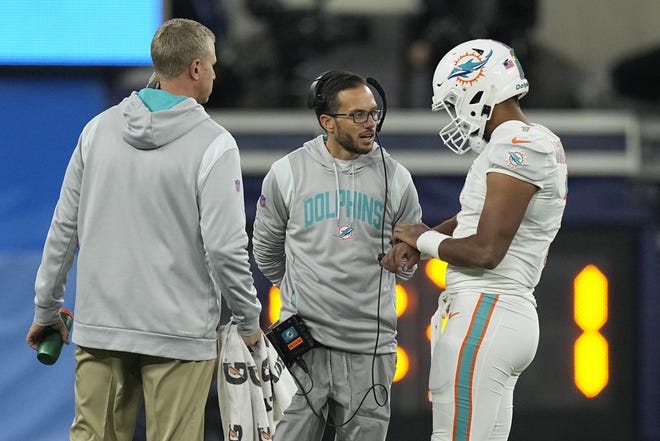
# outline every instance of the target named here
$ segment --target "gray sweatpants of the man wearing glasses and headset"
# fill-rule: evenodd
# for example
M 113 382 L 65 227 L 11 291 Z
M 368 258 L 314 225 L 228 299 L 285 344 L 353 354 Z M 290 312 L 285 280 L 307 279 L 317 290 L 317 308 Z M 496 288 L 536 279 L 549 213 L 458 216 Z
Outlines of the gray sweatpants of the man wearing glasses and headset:
M 376 356 L 376 398 L 371 377 L 373 355 L 316 347 L 302 358 L 309 375 L 298 364 L 291 368 L 299 382 L 298 393 L 277 425 L 273 440 L 320 441 L 325 420 L 337 425 L 350 419 L 335 428 L 336 441 L 385 441 L 396 354 Z

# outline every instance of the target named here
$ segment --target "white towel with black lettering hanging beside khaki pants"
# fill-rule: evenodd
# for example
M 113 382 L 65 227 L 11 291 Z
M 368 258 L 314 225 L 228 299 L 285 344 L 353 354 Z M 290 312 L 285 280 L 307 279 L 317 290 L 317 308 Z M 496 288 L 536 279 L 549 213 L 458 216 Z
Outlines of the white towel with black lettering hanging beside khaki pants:
M 218 403 L 225 441 L 269 440 L 297 391 L 284 362 L 262 335 L 253 352 L 229 322 L 219 332 Z

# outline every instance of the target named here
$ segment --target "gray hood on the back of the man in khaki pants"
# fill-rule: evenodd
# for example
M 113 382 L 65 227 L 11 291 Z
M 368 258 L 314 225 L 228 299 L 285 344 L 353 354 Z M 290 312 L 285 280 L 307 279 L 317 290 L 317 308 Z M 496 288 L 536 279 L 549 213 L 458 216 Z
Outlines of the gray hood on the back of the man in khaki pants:
M 140 150 L 169 144 L 210 118 L 204 107 L 192 98 L 185 98 L 169 109 L 152 112 L 138 93 L 133 92 L 119 107 L 125 123 L 122 138 Z

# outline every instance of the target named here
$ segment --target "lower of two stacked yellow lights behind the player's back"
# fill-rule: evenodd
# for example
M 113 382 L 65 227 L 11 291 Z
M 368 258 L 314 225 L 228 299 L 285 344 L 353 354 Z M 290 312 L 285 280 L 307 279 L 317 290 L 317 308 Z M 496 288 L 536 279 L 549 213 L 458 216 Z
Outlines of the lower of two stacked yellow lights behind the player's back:
M 575 342 L 575 384 L 587 397 L 598 395 L 609 382 L 608 344 L 598 332 L 585 332 Z

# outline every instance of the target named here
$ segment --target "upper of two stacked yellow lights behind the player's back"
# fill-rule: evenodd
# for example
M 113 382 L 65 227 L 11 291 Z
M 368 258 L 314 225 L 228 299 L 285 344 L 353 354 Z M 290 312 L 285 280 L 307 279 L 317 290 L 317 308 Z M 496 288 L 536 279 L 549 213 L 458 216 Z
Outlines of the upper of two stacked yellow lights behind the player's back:
M 607 322 L 607 277 L 587 265 L 573 281 L 575 323 L 585 331 L 597 331 Z

